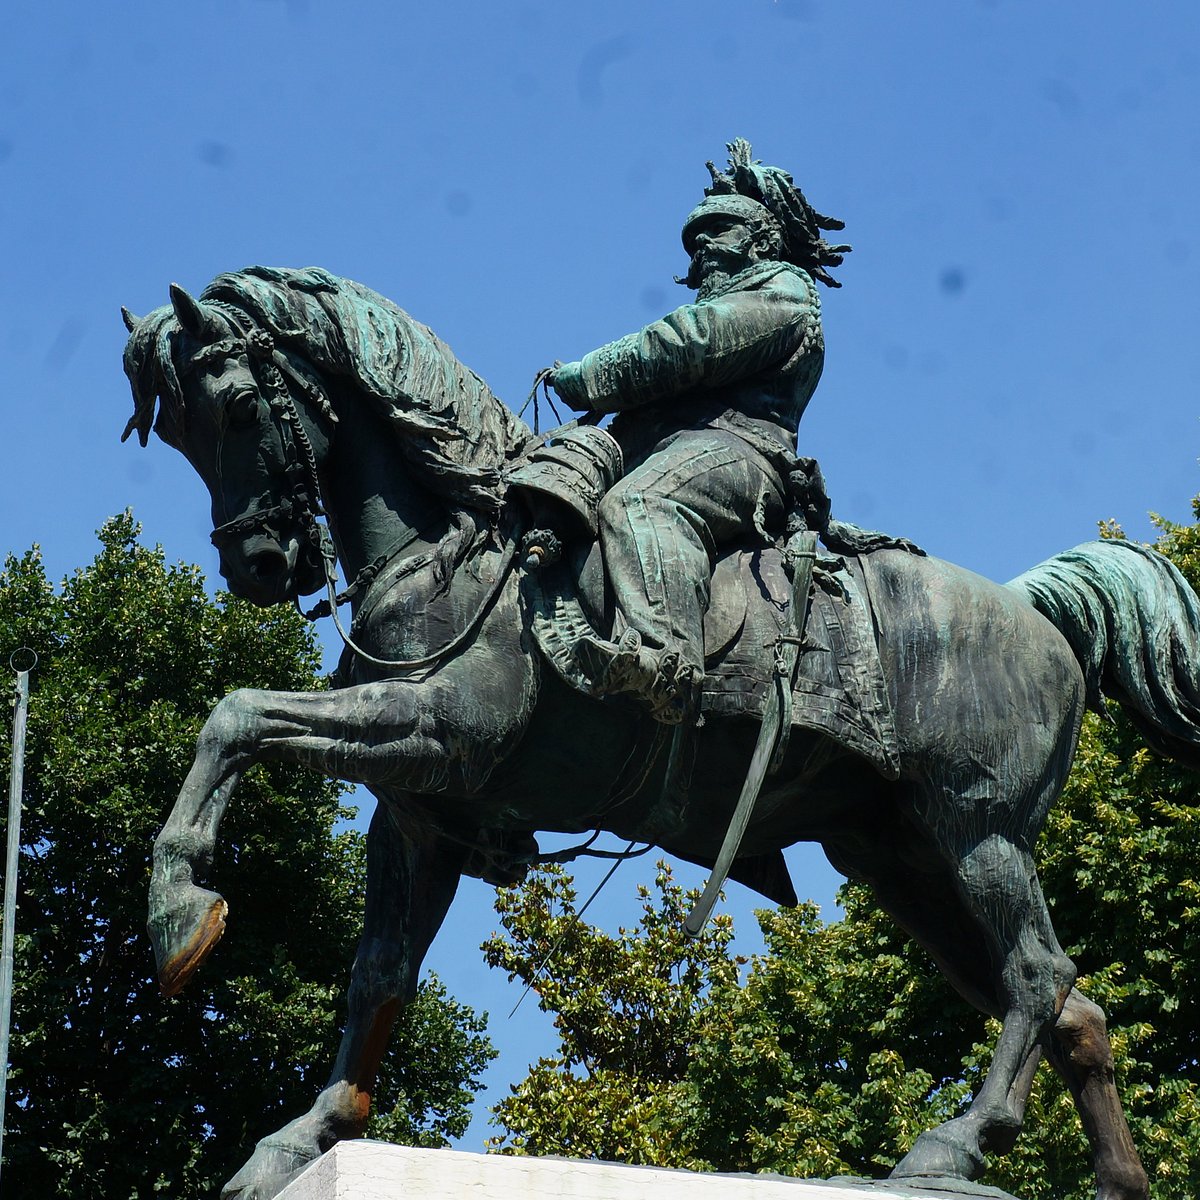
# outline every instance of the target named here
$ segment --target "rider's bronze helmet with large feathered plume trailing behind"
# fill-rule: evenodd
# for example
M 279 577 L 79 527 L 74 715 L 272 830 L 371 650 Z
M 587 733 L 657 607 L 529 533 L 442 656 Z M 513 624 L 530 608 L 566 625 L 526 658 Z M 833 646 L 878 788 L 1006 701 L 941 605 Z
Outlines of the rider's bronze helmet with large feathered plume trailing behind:
M 752 160 L 745 138 L 728 143 L 727 149 L 728 169 L 719 172 L 708 163 L 713 182 L 684 221 L 683 244 L 688 253 L 695 253 L 696 234 L 708 218 L 736 216 L 751 229 L 772 233 L 781 262 L 802 266 L 827 287 L 841 287 L 826 268 L 839 266 L 851 247 L 832 246 L 822 230 L 844 229 L 845 222 L 817 212 L 786 170 Z

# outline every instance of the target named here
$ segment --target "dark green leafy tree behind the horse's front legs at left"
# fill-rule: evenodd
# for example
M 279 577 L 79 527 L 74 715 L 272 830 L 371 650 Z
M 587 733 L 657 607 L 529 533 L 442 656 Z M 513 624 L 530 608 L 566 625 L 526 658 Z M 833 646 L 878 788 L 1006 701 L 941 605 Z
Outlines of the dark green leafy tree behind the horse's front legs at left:
M 362 838 L 313 773 L 251 770 L 212 877 L 229 930 L 163 1001 L 144 934 L 150 847 L 212 704 L 313 689 L 292 611 L 211 600 L 198 568 L 140 546 L 126 514 L 52 587 L 37 551 L 0 572 L 0 647 L 32 647 L 4 1181 L 11 1195 L 212 1194 L 324 1081 L 362 911 Z M 7 650 L 4 652 L 7 655 Z M 0 763 L 7 778 L 7 754 Z M 468 1123 L 484 1021 L 426 983 L 385 1066 L 377 1135 Z M 403 1061 L 401 1055 L 409 1057 Z

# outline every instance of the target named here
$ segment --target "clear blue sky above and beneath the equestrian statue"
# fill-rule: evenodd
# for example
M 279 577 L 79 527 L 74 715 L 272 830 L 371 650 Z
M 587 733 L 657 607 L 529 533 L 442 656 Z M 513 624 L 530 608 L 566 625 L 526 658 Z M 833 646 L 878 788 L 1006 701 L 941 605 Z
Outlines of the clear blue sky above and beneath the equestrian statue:
M 838 515 L 1001 580 L 1102 517 L 1148 538 L 1200 492 L 1198 34 L 1194 0 L 10 6 L 4 548 L 61 576 L 132 505 L 216 576 L 182 458 L 118 443 L 120 305 L 318 264 L 520 406 L 685 298 L 679 223 L 736 136 L 854 245 L 800 431 Z M 828 906 L 822 863 L 793 856 Z M 430 961 L 491 1009 L 494 1090 L 551 1039 L 530 1002 L 505 1020 L 474 953 L 493 924 L 464 887 Z

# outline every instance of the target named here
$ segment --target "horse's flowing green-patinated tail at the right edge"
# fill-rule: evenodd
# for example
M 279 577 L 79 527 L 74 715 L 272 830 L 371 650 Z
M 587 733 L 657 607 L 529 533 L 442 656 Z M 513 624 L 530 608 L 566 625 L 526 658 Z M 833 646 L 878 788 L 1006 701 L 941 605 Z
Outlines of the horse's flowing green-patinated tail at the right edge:
M 1087 541 L 1008 587 L 1067 638 L 1090 708 L 1117 701 L 1152 749 L 1200 770 L 1200 598 L 1171 562 Z

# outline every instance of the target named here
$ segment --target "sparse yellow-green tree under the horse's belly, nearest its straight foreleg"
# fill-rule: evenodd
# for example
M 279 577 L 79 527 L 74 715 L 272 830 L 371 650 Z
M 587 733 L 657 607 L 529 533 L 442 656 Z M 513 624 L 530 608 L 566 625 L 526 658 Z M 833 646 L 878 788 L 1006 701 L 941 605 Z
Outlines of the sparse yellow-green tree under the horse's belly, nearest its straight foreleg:
M 540 1007 L 556 1014 L 560 1044 L 500 1102 L 496 1122 L 508 1132 L 493 1148 L 672 1162 L 671 1085 L 686 1069 L 704 992 L 734 985 L 739 960 L 727 953 L 730 918 L 689 941 L 688 896 L 662 864 L 656 887 L 655 901 L 638 889 L 642 918 L 616 937 L 578 920 L 562 868 L 497 893 L 506 936 L 491 937 L 484 953 L 510 978 L 534 983 Z M 548 971 L 534 979 L 556 943 Z

